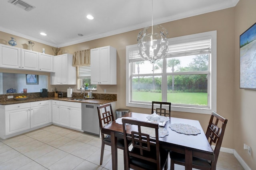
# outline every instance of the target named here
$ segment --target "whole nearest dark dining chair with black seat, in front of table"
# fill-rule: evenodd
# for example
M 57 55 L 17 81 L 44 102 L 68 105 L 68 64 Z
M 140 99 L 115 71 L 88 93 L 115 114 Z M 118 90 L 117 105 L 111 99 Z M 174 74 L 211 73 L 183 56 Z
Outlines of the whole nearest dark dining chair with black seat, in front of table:
M 167 170 L 168 151 L 159 147 L 158 124 L 144 121 L 122 119 L 124 131 L 124 150 L 126 170 Z M 150 137 L 149 128 L 155 138 Z M 144 132 L 145 131 L 145 132 Z M 132 141 L 132 149 L 129 142 Z

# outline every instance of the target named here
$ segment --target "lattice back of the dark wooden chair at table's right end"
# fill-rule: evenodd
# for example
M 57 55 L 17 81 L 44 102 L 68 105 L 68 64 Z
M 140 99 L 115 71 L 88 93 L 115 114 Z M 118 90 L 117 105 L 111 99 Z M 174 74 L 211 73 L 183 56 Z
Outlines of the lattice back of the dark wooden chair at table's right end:
M 220 147 L 222 144 L 222 139 L 224 137 L 224 132 L 226 129 L 228 119 L 225 119 L 215 111 L 212 111 L 212 115 L 210 117 L 209 125 L 206 130 L 206 137 L 212 145 L 215 143 L 215 149 L 214 149 L 214 161 L 211 162 L 211 169 L 216 168 L 218 156 L 220 153 Z

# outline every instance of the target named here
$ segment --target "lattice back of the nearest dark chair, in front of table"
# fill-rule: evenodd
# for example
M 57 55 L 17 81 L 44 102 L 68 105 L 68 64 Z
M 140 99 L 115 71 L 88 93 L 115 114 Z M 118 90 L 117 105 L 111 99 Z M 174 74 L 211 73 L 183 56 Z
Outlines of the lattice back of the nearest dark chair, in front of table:
M 126 169 L 141 169 L 130 161 L 130 156 L 138 158 L 138 160 L 146 160 L 156 164 L 157 169 L 160 169 L 160 151 L 158 141 L 158 124 L 148 123 L 144 121 L 137 121 L 131 119 L 122 119 L 124 131 L 124 150 L 126 154 Z M 126 125 L 128 124 L 128 125 Z M 150 127 L 154 129 L 155 139 L 151 138 L 149 134 L 142 132 L 142 127 Z M 129 151 L 129 141 L 132 141 L 133 150 Z M 138 151 L 139 150 L 139 151 Z M 150 151 L 156 151 L 155 155 L 150 154 Z

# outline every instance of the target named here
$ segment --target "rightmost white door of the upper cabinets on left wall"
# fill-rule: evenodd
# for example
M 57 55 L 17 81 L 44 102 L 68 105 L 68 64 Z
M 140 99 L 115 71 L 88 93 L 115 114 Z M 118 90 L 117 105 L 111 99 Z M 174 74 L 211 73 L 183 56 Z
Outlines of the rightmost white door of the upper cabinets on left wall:
M 39 70 L 53 72 L 53 56 L 39 53 Z

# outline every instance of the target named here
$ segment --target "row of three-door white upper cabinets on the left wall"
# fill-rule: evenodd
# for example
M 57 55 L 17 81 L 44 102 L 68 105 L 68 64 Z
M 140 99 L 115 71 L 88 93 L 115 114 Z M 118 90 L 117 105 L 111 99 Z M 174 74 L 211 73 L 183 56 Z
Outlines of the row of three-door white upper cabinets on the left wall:
M 53 72 L 53 56 L 0 44 L 0 68 Z

